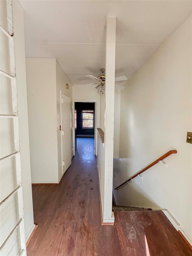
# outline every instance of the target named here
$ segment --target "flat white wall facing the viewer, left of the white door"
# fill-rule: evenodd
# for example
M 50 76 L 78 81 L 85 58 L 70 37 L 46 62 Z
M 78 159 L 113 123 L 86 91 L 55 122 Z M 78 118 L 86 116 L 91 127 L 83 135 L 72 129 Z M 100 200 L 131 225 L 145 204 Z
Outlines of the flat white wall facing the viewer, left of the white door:
M 32 183 L 58 182 L 55 59 L 26 58 Z

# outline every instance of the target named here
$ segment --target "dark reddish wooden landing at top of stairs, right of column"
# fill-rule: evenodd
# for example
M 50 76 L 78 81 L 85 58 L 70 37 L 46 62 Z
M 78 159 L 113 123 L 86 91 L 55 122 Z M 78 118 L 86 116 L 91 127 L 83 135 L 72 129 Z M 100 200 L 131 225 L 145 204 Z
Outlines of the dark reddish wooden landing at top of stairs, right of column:
M 192 256 L 190 244 L 176 232 L 161 210 L 119 206 L 114 195 L 112 203 L 117 233 L 123 238 L 123 255 Z

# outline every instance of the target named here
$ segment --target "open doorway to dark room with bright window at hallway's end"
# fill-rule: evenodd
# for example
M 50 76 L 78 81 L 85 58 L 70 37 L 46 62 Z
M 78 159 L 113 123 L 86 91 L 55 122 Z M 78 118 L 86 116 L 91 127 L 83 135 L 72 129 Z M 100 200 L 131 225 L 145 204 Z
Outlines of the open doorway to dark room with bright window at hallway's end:
M 78 138 L 90 138 L 95 145 L 96 109 L 95 102 L 74 103 L 75 152 Z

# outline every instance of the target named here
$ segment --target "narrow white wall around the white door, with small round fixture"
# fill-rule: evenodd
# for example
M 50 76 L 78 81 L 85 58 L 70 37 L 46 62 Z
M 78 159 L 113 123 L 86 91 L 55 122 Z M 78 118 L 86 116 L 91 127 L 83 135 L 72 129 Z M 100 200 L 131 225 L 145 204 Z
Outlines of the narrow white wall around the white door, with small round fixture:
M 57 90 L 57 148 L 58 148 L 58 180 L 62 177 L 62 131 L 60 131 L 61 125 L 61 91 L 72 100 L 72 84 L 67 78 L 61 66 L 56 61 L 56 90 Z M 66 88 L 66 84 L 69 85 L 69 89 Z

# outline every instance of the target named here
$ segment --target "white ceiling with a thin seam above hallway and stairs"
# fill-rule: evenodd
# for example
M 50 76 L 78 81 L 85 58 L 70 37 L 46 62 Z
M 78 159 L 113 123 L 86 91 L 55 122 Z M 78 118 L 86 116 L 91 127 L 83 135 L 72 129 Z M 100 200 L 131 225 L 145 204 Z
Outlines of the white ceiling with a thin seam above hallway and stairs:
M 19 1 L 26 57 L 56 58 L 73 84 L 105 67 L 105 22 L 117 17 L 116 76 L 130 78 L 191 14 L 192 1 Z

